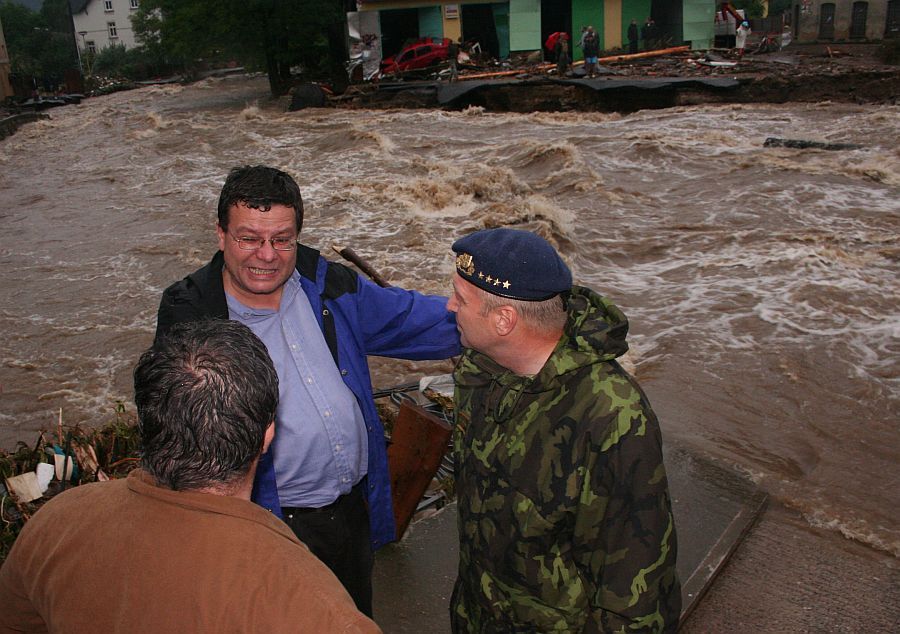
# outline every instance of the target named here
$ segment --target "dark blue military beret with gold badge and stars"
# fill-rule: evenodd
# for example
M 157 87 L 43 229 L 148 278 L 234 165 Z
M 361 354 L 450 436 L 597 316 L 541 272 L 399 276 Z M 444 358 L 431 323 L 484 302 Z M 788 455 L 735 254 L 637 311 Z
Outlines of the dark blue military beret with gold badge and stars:
M 456 271 L 488 293 L 542 301 L 572 288 L 572 272 L 556 249 L 519 229 L 476 231 L 453 243 Z

